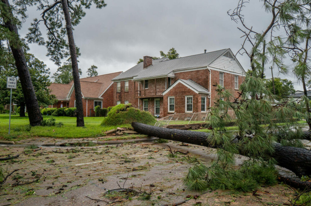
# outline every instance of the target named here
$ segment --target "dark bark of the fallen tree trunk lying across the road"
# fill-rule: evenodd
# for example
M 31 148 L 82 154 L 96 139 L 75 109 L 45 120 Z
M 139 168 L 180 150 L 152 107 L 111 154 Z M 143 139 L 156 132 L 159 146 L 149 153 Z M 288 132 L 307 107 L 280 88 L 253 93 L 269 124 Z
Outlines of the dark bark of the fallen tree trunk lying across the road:
M 205 132 L 160 128 L 138 122 L 132 122 L 132 127 L 140 134 L 205 147 L 217 147 L 210 145 L 208 141 L 209 134 Z M 278 165 L 293 171 L 299 177 L 311 175 L 311 151 L 297 147 L 282 147 L 279 143 L 275 143 L 274 147 L 275 152 L 272 157 L 278 162 Z

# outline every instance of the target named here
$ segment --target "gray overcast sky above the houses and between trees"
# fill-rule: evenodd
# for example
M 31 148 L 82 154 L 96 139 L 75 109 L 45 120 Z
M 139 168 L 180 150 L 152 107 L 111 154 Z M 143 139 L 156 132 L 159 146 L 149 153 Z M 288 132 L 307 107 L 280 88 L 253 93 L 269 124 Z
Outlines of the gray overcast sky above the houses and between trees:
M 234 9 L 238 0 L 105 0 L 103 9 L 92 7 L 75 27 L 75 42 L 81 50 L 79 68 L 82 77 L 91 65 L 98 73 L 126 71 L 143 56 L 160 56 L 174 47 L 180 57 L 230 48 L 236 53 L 243 42 L 237 24 L 227 11 Z M 39 17 L 36 8 L 29 8 L 29 18 L 20 31 L 25 37 L 33 18 Z M 253 0 L 244 8 L 245 23 L 261 31 L 267 27 L 270 14 L 264 12 L 262 1 Z M 43 27 L 42 27 L 43 28 Z M 43 28 L 44 29 L 44 28 Z M 30 53 L 44 61 L 51 75 L 57 66 L 46 57 L 44 46 L 30 44 Z M 245 70 L 250 67 L 247 56 L 237 55 Z M 271 71 L 266 71 L 271 77 Z M 290 72 L 284 76 L 274 71 L 274 76 L 288 78 L 301 86 Z

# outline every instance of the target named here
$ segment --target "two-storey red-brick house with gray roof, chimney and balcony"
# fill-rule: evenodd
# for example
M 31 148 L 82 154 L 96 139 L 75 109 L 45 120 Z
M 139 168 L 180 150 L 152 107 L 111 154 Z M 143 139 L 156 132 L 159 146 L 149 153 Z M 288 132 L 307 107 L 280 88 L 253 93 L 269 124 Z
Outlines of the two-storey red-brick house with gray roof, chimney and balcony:
M 245 71 L 230 49 L 178 59 L 144 61 L 114 79 L 114 105 L 134 107 L 160 117 L 207 111 L 214 105 L 220 84 L 238 96 Z

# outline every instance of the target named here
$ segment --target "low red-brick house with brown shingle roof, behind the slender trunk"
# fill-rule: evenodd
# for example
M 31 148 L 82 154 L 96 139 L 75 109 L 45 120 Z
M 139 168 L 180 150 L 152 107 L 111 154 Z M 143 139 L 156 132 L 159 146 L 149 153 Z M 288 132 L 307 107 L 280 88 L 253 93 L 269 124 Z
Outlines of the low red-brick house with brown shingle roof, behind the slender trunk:
M 114 84 L 111 79 L 119 74 L 121 72 L 80 79 L 84 116 L 95 116 L 94 109 L 96 106 L 101 108 L 114 106 Z M 69 84 L 52 83 L 48 88 L 51 90 L 50 94 L 54 94 L 58 99 L 56 105 L 50 105 L 49 107 L 76 107 L 73 81 Z

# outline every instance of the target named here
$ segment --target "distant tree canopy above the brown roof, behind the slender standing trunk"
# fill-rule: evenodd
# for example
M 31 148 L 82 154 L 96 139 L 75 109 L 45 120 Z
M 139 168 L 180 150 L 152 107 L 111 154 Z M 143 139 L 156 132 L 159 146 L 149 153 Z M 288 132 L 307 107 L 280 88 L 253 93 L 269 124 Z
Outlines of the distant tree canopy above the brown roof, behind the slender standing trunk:
M 80 68 L 79 74 L 82 74 Z M 69 82 L 73 80 L 72 65 L 70 63 L 65 63 L 63 66 L 58 67 L 57 71 L 53 73 L 52 79 L 54 80 L 54 83 L 69 84 Z

